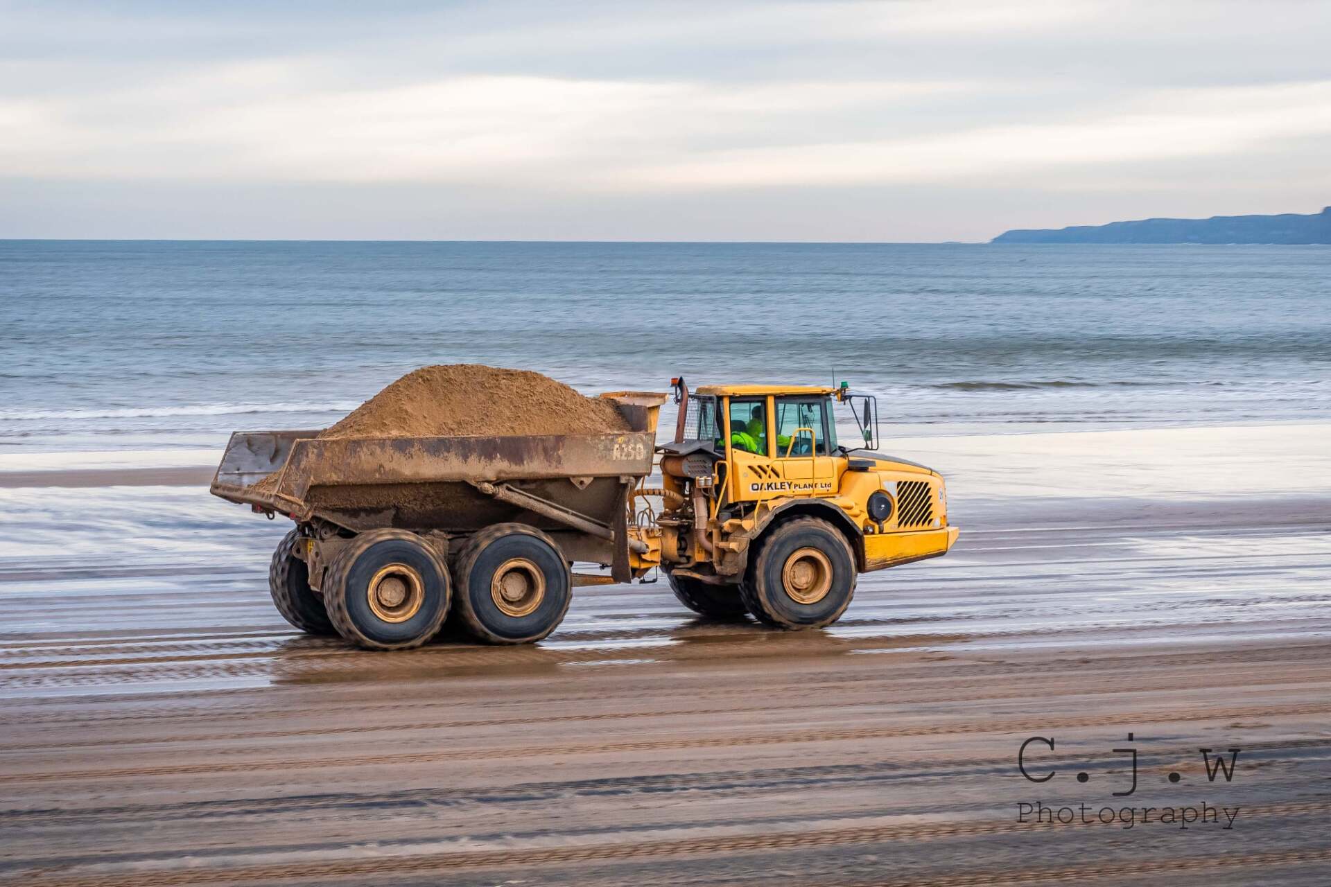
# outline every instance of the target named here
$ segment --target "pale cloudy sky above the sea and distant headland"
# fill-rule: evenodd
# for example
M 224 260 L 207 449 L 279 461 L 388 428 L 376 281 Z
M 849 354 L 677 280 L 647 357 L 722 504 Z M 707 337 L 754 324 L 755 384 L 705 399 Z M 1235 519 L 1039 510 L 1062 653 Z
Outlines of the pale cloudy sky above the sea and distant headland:
M 934 242 L 1314 213 L 1328 47 L 1326 0 L 0 0 L 0 237 Z

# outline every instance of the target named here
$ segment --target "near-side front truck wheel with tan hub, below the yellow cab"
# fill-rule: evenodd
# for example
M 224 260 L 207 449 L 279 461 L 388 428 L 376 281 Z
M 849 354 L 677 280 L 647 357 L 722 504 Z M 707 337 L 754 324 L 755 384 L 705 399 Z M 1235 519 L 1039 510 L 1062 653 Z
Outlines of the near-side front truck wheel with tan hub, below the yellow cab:
M 851 605 L 855 580 L 855 555 L 845 537 L 825 520 L 796 517 L 761 541 L 740 594 L 768 625 L 823 628 Z

